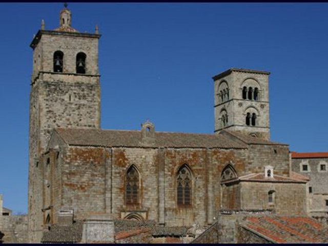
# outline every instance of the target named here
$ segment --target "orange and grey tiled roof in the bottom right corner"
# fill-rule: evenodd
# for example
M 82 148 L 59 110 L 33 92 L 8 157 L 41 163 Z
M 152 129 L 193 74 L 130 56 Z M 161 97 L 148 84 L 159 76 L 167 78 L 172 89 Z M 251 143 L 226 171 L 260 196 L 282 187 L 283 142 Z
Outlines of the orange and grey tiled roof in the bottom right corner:
M 275 243 L 328 242 L 327 227 L 306 216 L 249 216 L 240 226 Z

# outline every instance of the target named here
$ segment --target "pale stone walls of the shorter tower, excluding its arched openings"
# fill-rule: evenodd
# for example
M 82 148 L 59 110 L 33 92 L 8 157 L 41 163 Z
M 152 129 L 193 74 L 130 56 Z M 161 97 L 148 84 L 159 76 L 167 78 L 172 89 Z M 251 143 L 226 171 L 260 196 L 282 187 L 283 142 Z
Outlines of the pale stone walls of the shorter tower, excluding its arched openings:
M 218 98 L 218 89 L 222 82 L 229 86 L 229 100 L 221 102 Z M 259 99 L 242 99 L 242 88 L 257 87 L 259 89 Z M 215 131 L 221 130 L 220 112 L 226 109 L 228 113 L 227 129 L 257 133 L 259 137 L 270 139 L 270 118 L 269 118 L 269 76 L 267 74 L 233 71 L 231 74 L 215 80 L 214 82 L 214 114 Z M 246 113 L 251 112 L 257 115 L 256 126 L 245 124 Z

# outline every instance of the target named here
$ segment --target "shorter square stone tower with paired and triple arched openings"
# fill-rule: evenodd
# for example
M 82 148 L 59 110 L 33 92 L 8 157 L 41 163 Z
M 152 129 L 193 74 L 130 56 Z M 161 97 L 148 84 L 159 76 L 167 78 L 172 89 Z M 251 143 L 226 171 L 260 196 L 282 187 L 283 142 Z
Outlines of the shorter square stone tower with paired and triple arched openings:
M 269 74 L 231 68 L 213 77 L 215 133 L 227 129 L 270 139 Z

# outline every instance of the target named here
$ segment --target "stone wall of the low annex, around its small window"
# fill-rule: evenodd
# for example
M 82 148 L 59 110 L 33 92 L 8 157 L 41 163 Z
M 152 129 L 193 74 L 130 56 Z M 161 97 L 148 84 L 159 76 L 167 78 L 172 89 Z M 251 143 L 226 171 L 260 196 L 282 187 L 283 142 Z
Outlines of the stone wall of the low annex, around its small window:
M 241 208 L 243 210 L 275 209 L 277 214 L 305 214 L 305 183 L 241 182 Z M 269 203 L 268 192 L 275 191 L 275 202 Z

